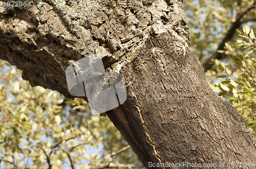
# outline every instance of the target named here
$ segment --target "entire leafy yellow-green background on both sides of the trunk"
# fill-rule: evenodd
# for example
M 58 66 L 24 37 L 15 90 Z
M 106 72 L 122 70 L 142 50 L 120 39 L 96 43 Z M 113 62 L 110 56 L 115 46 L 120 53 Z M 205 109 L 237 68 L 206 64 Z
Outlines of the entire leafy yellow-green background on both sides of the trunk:
M 187 0 L 191 48 L 217 95 L 256 133 L 255 1 Z M 144 168 L 113 123 L 88 103 L 32 88 L 0 62 L 0 168 Z

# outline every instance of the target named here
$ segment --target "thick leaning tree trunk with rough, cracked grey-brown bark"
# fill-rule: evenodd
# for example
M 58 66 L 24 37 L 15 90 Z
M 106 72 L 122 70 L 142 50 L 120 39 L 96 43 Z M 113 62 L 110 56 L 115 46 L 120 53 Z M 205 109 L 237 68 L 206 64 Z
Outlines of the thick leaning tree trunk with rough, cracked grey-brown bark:
M 31 86 L 73 98 L 65 70 L 94 53 L 123 74 L 128 99 L 107 115 L 147 168 L 150 161 L 256 162 L 255 137 L 212 92 L 189 38 L 182 0 L 0 8 L 0 59 L 23 70 Z

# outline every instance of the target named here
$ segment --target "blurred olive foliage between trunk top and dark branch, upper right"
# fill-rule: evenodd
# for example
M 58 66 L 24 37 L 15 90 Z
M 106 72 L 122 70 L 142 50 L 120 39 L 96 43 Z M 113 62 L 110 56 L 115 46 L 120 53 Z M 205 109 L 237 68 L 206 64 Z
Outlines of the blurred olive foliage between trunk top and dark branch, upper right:
M 224 37 L 234 22 L 241 19 L 239 23 L 243 24 L 255 20 L 256 11 L 248 10 L 253 3 L 253 0 L 185 1 L 186 22 L 191 34 L 190 46 L 202 64 L 211 58 L 218 46 L 224 42 Z M 233 37 L 230 40 L 235 42 L 238 37 L 236 32 Z

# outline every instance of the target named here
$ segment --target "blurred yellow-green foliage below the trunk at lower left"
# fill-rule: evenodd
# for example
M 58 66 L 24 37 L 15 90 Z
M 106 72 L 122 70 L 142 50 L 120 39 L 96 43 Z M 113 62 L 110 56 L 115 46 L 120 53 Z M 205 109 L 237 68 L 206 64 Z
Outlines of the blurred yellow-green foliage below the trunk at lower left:
M 90 115 L 82 99 L 32 88 L 21 71 L 0 62 L 1 168 L 90 168 L 141 163 L 108 118 Z M 98 147 L 100 149 L 97 149 Z

